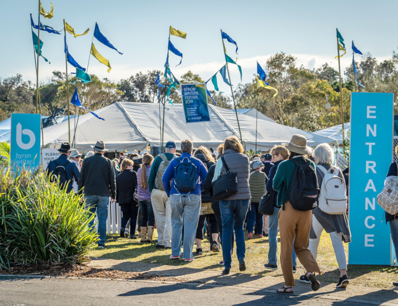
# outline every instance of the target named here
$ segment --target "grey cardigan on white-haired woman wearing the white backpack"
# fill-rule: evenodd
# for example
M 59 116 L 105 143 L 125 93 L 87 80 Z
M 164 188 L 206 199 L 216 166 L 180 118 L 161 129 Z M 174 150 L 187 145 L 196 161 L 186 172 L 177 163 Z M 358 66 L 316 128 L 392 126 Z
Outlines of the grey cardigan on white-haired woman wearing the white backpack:
M 331 168 L 331 165 L 326 165 L 326 164 L 321 164 L 320 166 L 323 166 L 326 170 L 329 170 Z M 322 186 L 322 181 L 324 180 L 324 176 L 325 176 L 324 172 L 318 169 L 316 170 L 316 177 L 318 179 L 319 188 Z M 344 176 L 343 173 L 341 172 L 341 169 L 338 176 L 344 180 Z M 327 213 L 322 212 L 319 208 L 315 208 L 314 210 L 312 210 L 312 214 L 315 216 L 316 220 L 318 220 L 320 225 L 324 227 L 326 233 L 333 233 L 333 232 L 342 233 L 341 240 L 344 241 L 345 243 L 351 242 L 351 231 L 347 219 L 347 214 L 329 215 Z M 312 225 L 310 231 L 310 238 L 316 239 L 316 235 L 312 228 Z

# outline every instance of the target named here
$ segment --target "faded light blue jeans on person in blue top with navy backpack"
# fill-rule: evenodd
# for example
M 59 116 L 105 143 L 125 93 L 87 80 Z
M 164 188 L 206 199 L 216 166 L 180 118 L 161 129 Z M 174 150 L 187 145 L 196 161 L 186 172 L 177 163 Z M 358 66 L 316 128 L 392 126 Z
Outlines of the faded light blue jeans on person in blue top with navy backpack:
M 171 254 L 181 256 L 182 231 L 184 226 L 183 259 L 193 259 L 196 227 L 201 212 L 201 197 L 197 194 L 180 196 L 170 194 L 171 207 Z

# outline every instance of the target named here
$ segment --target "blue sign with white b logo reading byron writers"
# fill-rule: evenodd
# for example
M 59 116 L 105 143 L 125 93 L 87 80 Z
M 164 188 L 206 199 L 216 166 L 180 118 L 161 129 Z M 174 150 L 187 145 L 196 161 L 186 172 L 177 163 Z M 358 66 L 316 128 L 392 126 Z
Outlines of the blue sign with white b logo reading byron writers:
M 11 114 L 11 165 L 40 165 L 40 114 Z

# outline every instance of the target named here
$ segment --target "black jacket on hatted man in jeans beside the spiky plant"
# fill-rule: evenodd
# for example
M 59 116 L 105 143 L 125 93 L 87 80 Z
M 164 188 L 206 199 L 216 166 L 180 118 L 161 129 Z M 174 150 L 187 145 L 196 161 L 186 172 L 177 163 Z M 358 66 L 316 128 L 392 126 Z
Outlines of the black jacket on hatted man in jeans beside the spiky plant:
M 79 193 L 83 190 L 85 195 L 110 196 L 114 199 L 116 181 L 111 161 L 101 153 L 85 158 L 80 171 L 78 190 Z

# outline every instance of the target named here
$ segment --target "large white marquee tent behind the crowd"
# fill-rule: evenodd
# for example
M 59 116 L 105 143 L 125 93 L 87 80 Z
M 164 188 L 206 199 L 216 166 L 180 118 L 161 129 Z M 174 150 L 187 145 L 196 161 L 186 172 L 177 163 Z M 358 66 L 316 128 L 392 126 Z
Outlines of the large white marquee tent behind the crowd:
M 162 106 L 161 106 L 162 107 Z M 190 139 L 194 146 L 205 145 L 215 149 L 228 136 L 239 138 L 239 129 L 234 110 L 215 106 L 209 107 L 210 122 L 186 123 L 182 104 L 167 105 L 165 111 L 164 144 L 168 140 L 177 143 Z M 76 131 L 76 148 L 79 151 L 90 150 L 97 140 L 105 142 L 111 150 L 143 150 L 148 145 L 160 146 L 159 104 L 117 102 L 95 111 L 99 120 L 91 114 L 80 116 Z M 161 108 L 163 116 L 163 108 Z M 239 114 L 239 124 L 246 150 L 255 150 L 256 120 Z M 44 129 L 44 147 L 59 147 L 68 141 L 68 122 Z M 71 124 L 71 141 L 73 124 Z M 269 150 L 274 144 L 289 142 L 293 134 L 304 135 L 308 145 L 315 147 L 320 143 L 337 144 L 334 139 L 294 129 L 293 127 L 258 119 L 257 150 Z

